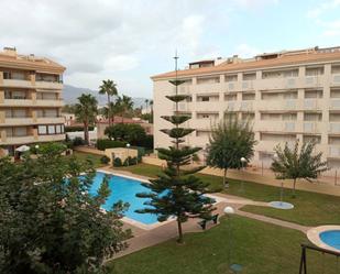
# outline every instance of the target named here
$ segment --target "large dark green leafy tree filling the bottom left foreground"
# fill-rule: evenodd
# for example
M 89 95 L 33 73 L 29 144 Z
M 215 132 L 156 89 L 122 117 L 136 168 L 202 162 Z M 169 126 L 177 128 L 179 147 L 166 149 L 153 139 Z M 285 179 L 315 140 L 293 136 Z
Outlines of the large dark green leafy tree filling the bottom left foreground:
M 1 273 L 103 273 L 103 261 L 127 246 L 130 232 L 120 221 L 127 205 L 103 211 L 108 179 L 89 194 L 92 164 L 64 151 L 42 144 L 36 158 L 0 158 Z

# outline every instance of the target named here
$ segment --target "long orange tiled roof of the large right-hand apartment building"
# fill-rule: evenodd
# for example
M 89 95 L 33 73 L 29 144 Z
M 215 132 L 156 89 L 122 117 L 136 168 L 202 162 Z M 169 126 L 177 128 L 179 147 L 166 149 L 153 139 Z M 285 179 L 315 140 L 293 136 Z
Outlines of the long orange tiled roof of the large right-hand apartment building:
M 289 66 L 297 64 L 308 64 L 308 63 L 330 62 L 330 61 L 340 62 L 340 52 L 333 52 L 333 53 L 309 52 L 295 55 L 282 55 L 277 58 L 272 59 L 259 59 L 259 61 L 254 59 L 233 64 L 228 64 L 227 62 L 224 62 L 213 67 L 200 67 L 200 68 L 178 70 L 177 75 L 178 77 L 194 76 L 194 75 L 209 75 L 213 73 L 229 73 L 229 72 L 231 73 L 245 69 L 270 68 L 276 66 Z M 169 72 L 165 74 L 154 75 L 151 78 L 153 80 L 156 80 L 156 79 L 174 78 L 174 77 L 175 72 Z

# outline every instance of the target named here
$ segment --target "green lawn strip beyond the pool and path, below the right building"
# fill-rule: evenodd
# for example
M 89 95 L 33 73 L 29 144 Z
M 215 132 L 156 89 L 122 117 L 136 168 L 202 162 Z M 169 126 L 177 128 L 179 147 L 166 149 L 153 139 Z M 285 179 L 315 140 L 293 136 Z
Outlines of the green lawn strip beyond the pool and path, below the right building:
M 161 172 L 158 166 L 139 164 L 136 166 L 122 167 L 120 169 L 130 171 L 135 174 L 155 177 Z M 204 182 L 209 183 L 211 191 L 222 190 L 222 178 L 218 176 L 198 174 Z M 279 188 L 263 184 L 245 182 L 244 189 L 241 189 L 241 182 L 229 179 L 230 187 L 223 190 L 231 194 L 257 201 L 272 201 L 279 199 Z M 307 183 L 306 184 L 310 184 Z M 340 197 L 297 190 L 297 197 L 292 197 L 292 190 L 285 189 L 284 200 L 294 204 L 292 210 L 279 210 L 267 207 L 245 206 L 244 211 L 264 215 L 282 220 L 287 220 L 304 226 L 340 224 Z

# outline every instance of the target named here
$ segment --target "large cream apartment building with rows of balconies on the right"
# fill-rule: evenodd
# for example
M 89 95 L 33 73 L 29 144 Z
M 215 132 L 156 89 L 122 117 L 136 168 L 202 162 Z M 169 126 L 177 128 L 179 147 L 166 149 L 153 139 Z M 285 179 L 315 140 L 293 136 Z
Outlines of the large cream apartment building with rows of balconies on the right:
M 201 146 L 205 157 L 211 125 L 226 111 L 250 119 L 257 144 L 252 164 L 270 166 L 276 144 L 315 140 L 331 167 L 340 167 L 340 47 L 306 48 L 190 63 L 178 70 L 188 95 L 179 111 L 191 116 L 185 127 L 196 129 L 186 144 Z M 175 72 L 153 76 L 154 145 L 171 145 L 160 129 L 171 127 L 161 117 L 172 114 L 175 94 L 168 83 Z

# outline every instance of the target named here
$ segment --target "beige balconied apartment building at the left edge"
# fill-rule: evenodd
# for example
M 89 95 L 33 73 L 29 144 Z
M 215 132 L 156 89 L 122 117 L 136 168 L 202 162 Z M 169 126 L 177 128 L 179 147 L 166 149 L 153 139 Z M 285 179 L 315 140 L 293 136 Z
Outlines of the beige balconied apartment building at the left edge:
M 65 140 L 62 89 L 65 67 L 42 57 L 0 52 L 0 154 L 22 144 Z

